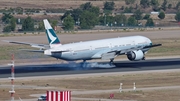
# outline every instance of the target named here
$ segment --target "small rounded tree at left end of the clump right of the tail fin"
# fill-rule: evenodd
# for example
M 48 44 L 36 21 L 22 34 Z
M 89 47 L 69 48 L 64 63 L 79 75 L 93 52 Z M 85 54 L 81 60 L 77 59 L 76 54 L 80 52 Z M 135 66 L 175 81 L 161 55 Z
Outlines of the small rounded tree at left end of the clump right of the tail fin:
M 74 29 L 74 19 L 68 15 L 66 18 L 64 18 L 63 26 L 65 30 L 73 30 Z

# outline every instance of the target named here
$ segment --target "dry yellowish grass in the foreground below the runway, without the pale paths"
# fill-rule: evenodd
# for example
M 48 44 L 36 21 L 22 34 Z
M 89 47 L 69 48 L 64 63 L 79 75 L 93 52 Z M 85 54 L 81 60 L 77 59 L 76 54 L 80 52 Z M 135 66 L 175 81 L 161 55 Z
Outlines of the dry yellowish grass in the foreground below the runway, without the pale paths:
M 136 82 L 137 88 L 148 87 L 161 87 L 161 86 L 179 86 L 180 85 L 180 72 L 158 72 L 158 73 L 142 73 L 142 74 L 116 74 L 116 75 L 103 75 L 103 76 L 84 76 L 84 77 L 71 77 L 71 78 L 36 78 L 36 79 L 16 79 L 15 84 L 21 85 L 21 89 L 16 89 L 16 93 L 22 98 L 32 98 L 30 94 L 43 94 L 46 90 L 110 90 L 118 89 L 119 83 L 123 83 L 123 89 L 132 89 L 133 82 Z M 8 80 L 1 81 L 0 85 L 9 85 Z M 26 86 L 35 86 L 37 88 L 26 88 Z M 38 89 L 38 87 L 44 87 Z M 50 88 L 55 87 L 55 88 Z M 10 88 L 0 88 L 0 101 L 9 99 L 8 91 Z M 115 94 L 115 99 L 122 100 L 139 100 L 139 101 L 178 101 L 180 90 L 178 89 L 162 89 L 129 92 Z M 88 94 L 88 95 L 73 95 L 73 97 L 86 97 L 86 98 L 108 98 L 110 93 L 101 94 Z M 16 95 L 17 98 L 17 95 Z

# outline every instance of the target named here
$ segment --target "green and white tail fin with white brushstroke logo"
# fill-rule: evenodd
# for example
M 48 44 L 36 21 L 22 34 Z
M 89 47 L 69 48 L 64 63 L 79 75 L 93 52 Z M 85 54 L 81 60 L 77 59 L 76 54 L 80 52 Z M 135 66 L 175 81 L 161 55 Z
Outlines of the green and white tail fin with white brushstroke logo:
M 56 33 L 54 32 L 54 30 L 52 29 L 51 25 L 49 24 L 47 19 L 43 20 L 44 22 L 44 27 L 46 29 L 46 35 L 50 44 L 50 47 L 53 44 L 60 44 L 60 40 L 58 39 Z

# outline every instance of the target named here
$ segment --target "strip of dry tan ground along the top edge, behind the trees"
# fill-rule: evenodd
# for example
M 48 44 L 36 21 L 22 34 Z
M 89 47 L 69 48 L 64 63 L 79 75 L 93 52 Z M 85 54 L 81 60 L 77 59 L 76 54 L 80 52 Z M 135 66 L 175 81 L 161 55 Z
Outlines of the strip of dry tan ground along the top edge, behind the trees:
M 86 2 L 91 2 L 94 6 L 98 6 L 103 8 L 104 2 L 107 0 L 1 0 L 0 1 L 0 8 L 5 7 L 23 7 L 23 8 L 77 8 L 79 5 L 84 4 Z M 163 0 L 158 0 L 159 4 L 162 4 Z M 176 6 L 179 0 L 167 0 L 168 3 L 171 3 L 172 6 Z M 125 6 L 124 0 L 114 0 L 115 8 L 121 8 Z M 140 0 L 136 0 L 135 4 L 139 5 Z M 129 6 L 129 5 L 128 5 Z

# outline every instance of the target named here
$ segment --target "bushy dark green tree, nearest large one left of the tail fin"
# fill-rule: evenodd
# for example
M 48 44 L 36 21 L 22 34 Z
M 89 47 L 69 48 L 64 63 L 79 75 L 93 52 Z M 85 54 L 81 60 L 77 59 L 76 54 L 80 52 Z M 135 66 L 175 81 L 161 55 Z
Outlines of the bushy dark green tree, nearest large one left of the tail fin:
M 22 24 L 22 30 L 23 31 L 34 31 L 34 20 L 28 16 L 23 24 Z

